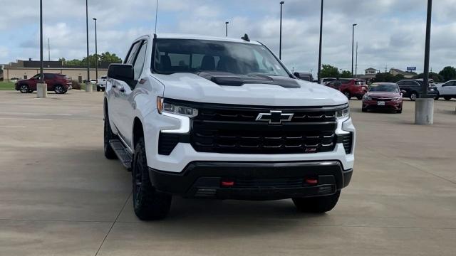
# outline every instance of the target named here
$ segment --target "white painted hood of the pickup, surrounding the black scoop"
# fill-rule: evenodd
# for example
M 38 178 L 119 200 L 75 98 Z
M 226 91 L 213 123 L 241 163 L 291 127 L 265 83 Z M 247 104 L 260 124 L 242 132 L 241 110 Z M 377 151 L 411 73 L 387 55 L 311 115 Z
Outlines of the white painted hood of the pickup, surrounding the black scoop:
M 295 80 L 298 87 L 266 83 L 218 85 L 192 73 L 153 74 L 165 87 L 163 97 L 191 102 L 276 107 L 336 106 L 348 103 L 338 90 Z M 291 78 L 290 78 L 291 79 Z

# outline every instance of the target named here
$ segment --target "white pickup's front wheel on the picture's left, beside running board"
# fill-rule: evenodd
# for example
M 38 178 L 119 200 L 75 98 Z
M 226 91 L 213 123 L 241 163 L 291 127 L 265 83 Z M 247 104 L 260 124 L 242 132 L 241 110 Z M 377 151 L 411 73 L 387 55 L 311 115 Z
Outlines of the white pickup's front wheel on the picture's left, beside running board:
M 172 196 L 155 191 L 150 183 L 144 139 L 138 139 L 132 165 L 133 208 L 140 220 L 160 220 L 170 212 Z

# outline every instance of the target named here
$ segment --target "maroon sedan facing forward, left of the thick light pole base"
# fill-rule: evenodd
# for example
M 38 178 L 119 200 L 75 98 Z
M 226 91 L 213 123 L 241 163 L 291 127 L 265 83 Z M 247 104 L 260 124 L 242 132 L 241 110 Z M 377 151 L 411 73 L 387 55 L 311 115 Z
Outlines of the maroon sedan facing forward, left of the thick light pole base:
M 375 82 L 363 96 L 363 112 L 393 110 L 402 113 L 403 92 L 392 82 Z

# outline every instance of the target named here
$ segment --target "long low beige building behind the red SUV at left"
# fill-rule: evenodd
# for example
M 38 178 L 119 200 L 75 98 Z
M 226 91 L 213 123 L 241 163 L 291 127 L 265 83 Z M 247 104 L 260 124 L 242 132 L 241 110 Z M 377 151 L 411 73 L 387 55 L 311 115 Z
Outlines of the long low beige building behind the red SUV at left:
M 109 63 L 100 63 L 98 78 L 108 74 Z M 44 61 L 44 73 L 68 75 L 71 80 L 83 82 L 87 79 L 87 68 L 81 66 L 63 65 L 61 61 Z M 28 79 L 40 73 L 40 62 L 35 60 L 17 60 L 16 63 L 4 65 L 4 81 L 14 78 Z M 90 68 L 90 79 L 95 79 L 95 68 Z

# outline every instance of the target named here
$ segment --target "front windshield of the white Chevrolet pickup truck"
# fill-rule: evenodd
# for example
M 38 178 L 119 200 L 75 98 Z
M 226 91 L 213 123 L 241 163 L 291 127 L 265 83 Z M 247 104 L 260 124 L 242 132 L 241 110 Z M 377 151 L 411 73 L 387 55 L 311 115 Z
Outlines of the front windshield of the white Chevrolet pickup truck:
M 252 43 L 157 39 L 153 67 L 162 74 L 216 71 L 289 77 L 266 47 Z

